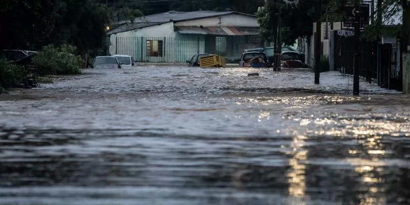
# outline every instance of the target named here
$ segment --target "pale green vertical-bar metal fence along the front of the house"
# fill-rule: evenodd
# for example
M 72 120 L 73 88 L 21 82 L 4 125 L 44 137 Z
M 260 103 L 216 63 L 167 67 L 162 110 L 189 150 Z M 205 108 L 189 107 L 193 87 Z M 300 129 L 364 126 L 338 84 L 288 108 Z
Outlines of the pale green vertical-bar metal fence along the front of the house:
M 131 55 L 135 61 L 154 63 L 186 63 L 197 53 L 215 53 L 229 63 L 237 63 L 243 49 L 258 44 L 241 42 L 240 37 L 116 37 L 115 53 Z

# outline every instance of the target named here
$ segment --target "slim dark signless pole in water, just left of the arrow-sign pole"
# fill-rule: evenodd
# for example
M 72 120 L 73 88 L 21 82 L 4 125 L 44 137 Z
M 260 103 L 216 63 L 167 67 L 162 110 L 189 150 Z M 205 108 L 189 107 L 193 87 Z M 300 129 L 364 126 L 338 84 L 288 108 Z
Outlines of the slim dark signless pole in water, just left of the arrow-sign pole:
M 316 4 L 316 41 L 315 41 L 315 84 L 319 84 L 320 78 L 320 47 L 321 47 L 321 22 L 320 13 L 322 10 L 322 1 L 318 0 Z

